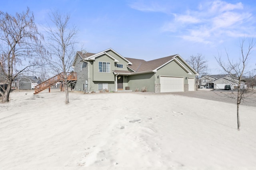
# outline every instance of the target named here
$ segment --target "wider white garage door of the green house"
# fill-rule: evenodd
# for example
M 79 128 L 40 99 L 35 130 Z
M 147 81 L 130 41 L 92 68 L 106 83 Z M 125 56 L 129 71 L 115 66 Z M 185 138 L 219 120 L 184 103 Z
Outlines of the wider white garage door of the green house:
M 160 77 L 160 91 L 161 92 L 176 92 L 184 91 L 183 77 Z

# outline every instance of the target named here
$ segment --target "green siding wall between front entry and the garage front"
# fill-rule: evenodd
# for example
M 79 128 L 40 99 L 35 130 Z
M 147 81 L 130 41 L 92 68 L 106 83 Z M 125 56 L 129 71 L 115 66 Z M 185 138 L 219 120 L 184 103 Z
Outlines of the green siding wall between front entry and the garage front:
M 154 73 L 128 76 L 128 87 L 130 87 L 130 90 L 135 91 L 136 87 L 138 87 L 139 91 L 141 91 L 144 86 L 148 87 L 148 92 L 155 92 Z

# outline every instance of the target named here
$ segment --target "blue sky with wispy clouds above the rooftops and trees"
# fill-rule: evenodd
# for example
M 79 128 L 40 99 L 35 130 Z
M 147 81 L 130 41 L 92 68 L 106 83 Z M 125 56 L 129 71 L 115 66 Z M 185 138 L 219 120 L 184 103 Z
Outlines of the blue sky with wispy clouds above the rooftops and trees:
M 210 74 L 223 73 L 214 56 L 226 57 L 226 49 L 235 61 L 240 40 L 256 36 L 254 0 L 0 0 L 0 4 L 1 11 L 13 15 L 29 7 L 42 25 L 51 10 L 70 13 L 79 30 L 76 51 L 112 48 L 124 57 L 146 61 L 201 53 Z M 250 57 L 248 66 L 256 68 L 256 51 Z

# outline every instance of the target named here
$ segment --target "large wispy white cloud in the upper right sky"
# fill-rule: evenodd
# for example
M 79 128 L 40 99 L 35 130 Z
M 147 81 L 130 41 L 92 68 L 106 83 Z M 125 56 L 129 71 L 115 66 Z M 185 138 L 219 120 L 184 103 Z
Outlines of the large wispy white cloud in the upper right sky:
M 198 10 L 174 14 L 174 20 L 165 23 L 162 30 L 171 29 L 168 31 L 184 40 L 208 44 L 224 42 L 228 37 L 254 34 L 253 24 L 252 14 L 244 10 L 241 2 L 230 4 L 216 0 L 199 4 Z

